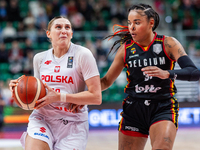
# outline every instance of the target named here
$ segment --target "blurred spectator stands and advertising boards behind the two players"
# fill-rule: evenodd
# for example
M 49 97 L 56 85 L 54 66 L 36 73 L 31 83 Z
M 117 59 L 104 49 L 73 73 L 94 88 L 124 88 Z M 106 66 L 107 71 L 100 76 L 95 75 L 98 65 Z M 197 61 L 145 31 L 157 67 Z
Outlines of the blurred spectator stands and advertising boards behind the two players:
M 17 107 L 8 83 L 33 75 L 33 56 L 51 47 L 45 33 L 48 22 L 59 15 L 69 18 L 72 42 L 91 50 L 102 77 L 115 56 L 106 58 L 113 41 L 103 38 L 113 33 L 114 24 L 127 25 L 127 9 L 135 3 L 150 4 L 158 12 L 156 32 L 177 38 L 200 69 L 200 0 L 0 0 L 0 140 L 18 139 L 26 130 L 31 111 Z M 103 104 L 88 106 L 90 130 L 117 129 L 126 84 L 124 70 L 103 92 Z M 200 129 L 199 82 L 175 84 L 179 127 Z

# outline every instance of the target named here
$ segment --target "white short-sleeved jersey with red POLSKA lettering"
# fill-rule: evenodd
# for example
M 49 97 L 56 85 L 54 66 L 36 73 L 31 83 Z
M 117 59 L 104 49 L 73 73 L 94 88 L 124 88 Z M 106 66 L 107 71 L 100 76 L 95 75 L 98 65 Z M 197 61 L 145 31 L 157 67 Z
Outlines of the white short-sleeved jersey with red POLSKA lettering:
M 91 51 L 71 43 L 68 52 L 55 59 L 53 48 L 34 56 L 34 76 L 41 79 L 56 92 L 74 94 L 86 89 L 85 81 L 98 76 L 99 71 Z M 70 121 L 88 120 L 87 105 L 78 113 L 68 112 L 68 103 L 56 102 L 33 113 Z

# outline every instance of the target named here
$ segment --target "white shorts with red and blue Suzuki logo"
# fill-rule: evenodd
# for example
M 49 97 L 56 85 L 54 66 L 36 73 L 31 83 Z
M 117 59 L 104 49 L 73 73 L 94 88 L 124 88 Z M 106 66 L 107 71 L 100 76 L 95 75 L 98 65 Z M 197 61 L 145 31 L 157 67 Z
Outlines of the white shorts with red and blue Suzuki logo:
M 88 121 L 68 121 L 31 114 L 27 132 L 22 134 L 20 141 L 25 148 L 25 138 L 28 134 L 48 143 L 51 150 L 85 150 L 88 130 Z

